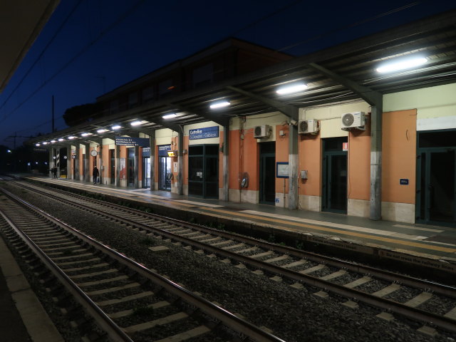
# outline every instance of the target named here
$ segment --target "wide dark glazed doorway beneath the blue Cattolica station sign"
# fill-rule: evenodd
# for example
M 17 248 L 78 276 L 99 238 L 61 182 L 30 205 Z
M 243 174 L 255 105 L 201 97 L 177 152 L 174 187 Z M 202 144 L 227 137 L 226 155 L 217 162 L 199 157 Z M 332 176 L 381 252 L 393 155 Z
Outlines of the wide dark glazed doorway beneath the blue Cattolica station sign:
M 193 145 L 188 152 L 188 194 L 219 198 L 219 145 Z

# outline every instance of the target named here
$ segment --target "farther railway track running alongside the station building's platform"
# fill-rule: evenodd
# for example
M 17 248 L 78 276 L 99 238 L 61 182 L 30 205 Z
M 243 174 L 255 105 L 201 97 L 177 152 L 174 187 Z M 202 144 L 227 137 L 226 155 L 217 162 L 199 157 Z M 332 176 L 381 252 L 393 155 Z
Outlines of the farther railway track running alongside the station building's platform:
M 427 333 L 432 333 L 433 327 L 456 332 L 456 289 L 452 286 L 69 195 L 68 192 L 63 195 L 61 190 L 50 192 L 22 183 L 21 186 L 128 224 L 145 234 L 171 239 L 199 253 L 217 256 L 225 262 L 235 262 L 239 267 L 247 266 L 257 274 L 265 274 L 275 280 L 294 281 L 291 286 L 298 290 L 304 284 L 320 289 L 316 295 L 323 298 L 328 293 L 345 297 L 348 299 L 345 303 L 347 306 L 356 307 L 358 302 L 366 303 L 383 310 L 379 316 L 385 319 L 390 319 L 390 314 L 398 314 L 420 321 L 425 324 L 421 329 Z M 62 199 L 62 196 L 66 199 Z M 406 299 L 403 295 L 405 292 L 408 294 Z

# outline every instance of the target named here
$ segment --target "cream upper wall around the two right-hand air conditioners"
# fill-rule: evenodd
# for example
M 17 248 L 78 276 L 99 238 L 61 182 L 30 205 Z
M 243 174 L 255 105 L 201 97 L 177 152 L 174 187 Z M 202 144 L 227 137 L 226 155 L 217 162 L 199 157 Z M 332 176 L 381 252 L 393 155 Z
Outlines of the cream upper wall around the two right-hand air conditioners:
M 346 137 L 348 132 L 341 130 L 341 116 L 353 112 L 369 113 L 371 106 L 364 101 L 357 101 L 318 108 L 300 108 L 299 120 L 319 120 L 321 138 Z

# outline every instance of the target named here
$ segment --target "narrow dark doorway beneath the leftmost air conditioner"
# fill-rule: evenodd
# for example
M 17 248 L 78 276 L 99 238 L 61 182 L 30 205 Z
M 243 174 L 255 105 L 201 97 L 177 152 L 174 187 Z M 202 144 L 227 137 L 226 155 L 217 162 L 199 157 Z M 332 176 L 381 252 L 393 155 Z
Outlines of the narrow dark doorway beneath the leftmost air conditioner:
M 276 142 L 259 143 L 259 202 L 276 204 Z

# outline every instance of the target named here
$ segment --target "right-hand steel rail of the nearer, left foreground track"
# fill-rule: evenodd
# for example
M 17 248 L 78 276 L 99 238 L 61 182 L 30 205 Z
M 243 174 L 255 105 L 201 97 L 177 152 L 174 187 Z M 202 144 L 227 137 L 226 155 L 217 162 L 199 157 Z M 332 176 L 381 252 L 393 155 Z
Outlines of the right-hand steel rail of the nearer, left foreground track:
M 213 304 L 212 302 L 207 301 L 206 299 L 204 299 L 200 296 L 197 296 L 196 294 L 193 294 L 191 291 L 184 289 L 179 284 L 176 284 L 175 282 L 166 279 L 165 277 L 161 276 L 160 274 L 150 271 L 150 269 L 147 269 L 147 267 L 143 266 L 142 264 L 139 264 L 136 261 L 128 259 L 128 257 L 125 257 L 125 255 L 120 254 L 119 252 L 116 252 L 113 249 L 110 249 L 110 247 L 105 246 L 105 244 L 102 244 L 101 242 L 98 242 L 95 239 L 86 236 L 85 234 L 79 232 L 77 229 L 74 229 L 73 227 L 68 226 L 67 224 L 62 222 L 60 219 L 56 219 L 55 217 L 52 217 L 51 215 L 47 214 L 46 212 L 43 212 L 43 210 L 39 209 L 38 207 L 35 207 L 33 204 L 30 204 L 30 203 L 24 201 L 24 199 L 16 197 L 16 195 L 11 194 L 11 192 L 8 192 L 7 190 L 1 189 L 1 188 L 0 188 L 0 190 L 4 191 L 6 193 L 6 195 L 9 195 L 9 197 L 15 199 L 16 202 L 26 205 L 27 207 L 31 208 L 34 212 L 41 214 L 42 216 L 46 217 L 51 222 L 58 224 L 59 227 L 62 227 L 63 229 L 66 229 L 68 232 L 71 232 L 72 234 L 76 235 L 76 237 L 83 240 L 84 242 L 87 242 L 88 244 L 90 244 L 90 246 L 94 247 L 95 249 L 98 249 L 100 252 L 103 252 L 103 254 L 108 254 L 110 257 L 112 257 L 116 261 L 119 261 L 120 263 L 124 264 L 125 266 L 130 267 L 130 269 L 133 269 L 133 271 L 135 271 L 137 274 L 140 274 L 141 276 L 144 276 L 145 278 L 150 279 L 154 284 L 161 286 L 168 293 L 178 296 L 180 299 L 186 301 L 187 304 L 196 306 L 199 310 L 201 310 L 202 312 L 204 312 L 205 314 L 207 314 L 209 316 L 212 316 L 217 321 L 222 322 L 225 326 L 231 328 L 233 331 L 242 333 L 244 336 L 251 338 L 253 341 L 285 342 L 281 338 L 264 331 L 263 329 L 259 328 L 258 326 L 254 326 L 252 323 L 249 323 L 249 322 L 245 321 L 244 319 L 239 318 L 239 317 L 235 316 L 234 314 L 231 314 L 229 311 L 226 311 L 225 309 L 221 308 L 220 306 L 217 306 L 217 305 Z M 38 247 L 36 247 L 36 248 L 38 248 Z M 94 305 L 96 306 L 96 304 L 94 304 Z M 131 340 L 125 340 L 125 341 L 131 341 Z

